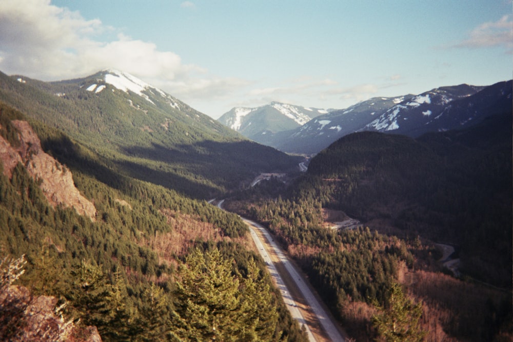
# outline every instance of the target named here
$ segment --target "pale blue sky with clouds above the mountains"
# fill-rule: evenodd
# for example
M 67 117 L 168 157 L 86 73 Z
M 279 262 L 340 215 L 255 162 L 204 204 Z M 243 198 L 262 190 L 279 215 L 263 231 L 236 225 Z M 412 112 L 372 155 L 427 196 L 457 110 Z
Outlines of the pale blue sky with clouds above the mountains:
M 0 0 L 0 71 L 128 72 L 213 118 L 513 78 L 511 0 Z

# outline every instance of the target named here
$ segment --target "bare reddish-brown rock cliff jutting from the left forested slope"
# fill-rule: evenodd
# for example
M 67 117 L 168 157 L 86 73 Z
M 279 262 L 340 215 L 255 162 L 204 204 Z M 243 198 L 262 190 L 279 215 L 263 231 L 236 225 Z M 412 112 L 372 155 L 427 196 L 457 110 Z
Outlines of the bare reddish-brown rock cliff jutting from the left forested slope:
M 4 166 L 4 174 L 10 178 L 14 167 L 22 163 L 35 180 L 42 181 L 40 187 L 50 204 L 73 207 L 78 214 L 94 219 L 94 205 L 75 187 L 71 172 L 43 151 L 41 141 L 29 123 L 13 120 L 12 124 L 19 131 L 21 144 L 19 147 L 12 147 L 0 136 L 0 160 Z

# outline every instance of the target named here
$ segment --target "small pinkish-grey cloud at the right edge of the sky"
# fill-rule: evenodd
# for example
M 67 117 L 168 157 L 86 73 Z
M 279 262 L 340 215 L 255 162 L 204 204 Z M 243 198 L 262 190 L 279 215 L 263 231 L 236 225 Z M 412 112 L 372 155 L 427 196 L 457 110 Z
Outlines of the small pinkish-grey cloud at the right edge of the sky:
M 473 29 L 469 38 L 455 45 L 465 48 L 486 48 L 503 46 L 513 51 L 513 21 L 511 15 L 504 15 L 497 22 L 487 22 Z

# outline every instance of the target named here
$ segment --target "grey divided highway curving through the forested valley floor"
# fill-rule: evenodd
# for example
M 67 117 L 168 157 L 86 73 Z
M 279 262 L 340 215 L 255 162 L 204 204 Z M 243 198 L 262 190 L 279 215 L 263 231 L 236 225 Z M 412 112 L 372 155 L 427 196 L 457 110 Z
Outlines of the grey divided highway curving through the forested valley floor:
M 221 208 L 223 205 L 224 199 L 221 200 L 218 203 L 218 207 Z M 300 325 L 304 325 L 308 334 L 308 338 L 310 341 L 315 341 L 315 337 L 313 336 L 310 328 L 309 323 L 301 312 L 298 309 L 297 303 L 295 303 L 294 299 L 290 295 L 290 291 L 288 290 L 287 286 L 285 285 L 281 275 L 278 273 L 278 270 L 274 266 L 274 264 L 271 261 L 271 258 L 269 257 L 268 251 L 265 248 L 265 244 L 262 242 L 258 234 L 255 232 L 255 230 L 258 230 L 261 234 L 265 236 L 267 239 L 268 246 L 270 246 L 273 249 L 273 252 L 278 256 L 278 259 L 283 264 L 285 270 L 289 273 L 291 280 L 294 281 L 297 288 L 301 291 L 306 303 L 311 308 L 315 316 L 317 317 L 319 323 L 321 324 L 322 328 L 326 332 L 327 336 L 331 341 L 345 341 L 344 336 L 341 334 L 339 329 L 334 325 L 333 321 L 330 319 L 330 316 L 328 313 L 324 310 L 321 303 L 319 303 L 319 300 L 313 295 L 310 288 L 304 283 L 302 277 L 300 276 L 299 272 L 295 269 L 294 265 L 290 262 L 289 258 L 285 255 L 285 253 L 281 250 L 281 248 L 278 246 L 277 243 L 274 242 L 274 239 L 271 237 L 271 235 L 267 232 L 267 230 L 259 225 L 256 222 L 253 222 L 252 220 L 249 220 L 247 218 L 241 217 L 242 220 L 249 226 L 251 230 L 251 237 L 253 238 L 253 241 L 255 245 L 257 246 L 260 254 L 264 258 L 264 261 L 267 264 L 267 269 L 273 279 L 275 280 L 278 288 L 280 289 L 280 292 L 283 296 L 283 300 L 285 301 L 285 304 L 287 305 L 287 308 L 289 309 L 292 317 L 294 319 L 297 319 L 300 323 Z

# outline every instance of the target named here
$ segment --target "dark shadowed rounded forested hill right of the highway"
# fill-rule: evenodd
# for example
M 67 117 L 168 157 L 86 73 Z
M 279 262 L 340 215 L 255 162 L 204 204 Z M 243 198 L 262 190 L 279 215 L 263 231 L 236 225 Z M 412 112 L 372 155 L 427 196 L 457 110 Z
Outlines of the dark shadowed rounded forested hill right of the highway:
M 510 287 L 511 136 L 511 113 L 418 139 L 351 134 L 311 160 L 298 191 L 321 184 L 329 208 L 459 245 L 467 274 Z

